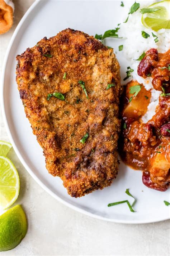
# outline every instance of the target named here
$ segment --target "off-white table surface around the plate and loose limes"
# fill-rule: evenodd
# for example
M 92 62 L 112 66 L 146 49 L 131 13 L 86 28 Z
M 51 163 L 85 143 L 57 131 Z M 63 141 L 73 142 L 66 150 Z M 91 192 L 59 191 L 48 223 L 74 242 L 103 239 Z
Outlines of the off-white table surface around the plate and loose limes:
M 9 40 L 34 0 L 13 0 L 14 25 L 0 35 L 0 72 Z M 47 18 L 47 17 L 46 17 Z M 0 115 L 0 140 L 9 141 Z M 116 224 L 76 212 L 52 198 L 24 169 L 14 151 L 9 157 L 20 176 L 21 204 L 28 232 L 13 250 L 0 255 L 170 255 L 170 221 L 151 224 Z

